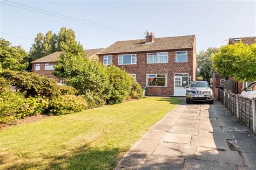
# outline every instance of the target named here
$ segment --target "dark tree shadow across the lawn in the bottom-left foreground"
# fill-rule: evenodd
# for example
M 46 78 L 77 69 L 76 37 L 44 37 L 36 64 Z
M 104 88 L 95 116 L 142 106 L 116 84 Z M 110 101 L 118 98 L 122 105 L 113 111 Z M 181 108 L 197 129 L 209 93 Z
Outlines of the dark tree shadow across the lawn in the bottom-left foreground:
M 21 163 L 6 166 L 5 169 L 113 169 L 121 151 L 119 148 L 98 149 L 87 145 L 71 150 L 73 154 L 39 155 L 33 162 L 21 161 Z M 31 153 L 32 154 L 32 153 Z M 25 158 L 25 157 L 24 157 Z M 36 161 L 35 161 L 36 160 Z M 45 161 L 45 164 L 43 163 Z M 1 160 L 1 164 L 4 163 Z

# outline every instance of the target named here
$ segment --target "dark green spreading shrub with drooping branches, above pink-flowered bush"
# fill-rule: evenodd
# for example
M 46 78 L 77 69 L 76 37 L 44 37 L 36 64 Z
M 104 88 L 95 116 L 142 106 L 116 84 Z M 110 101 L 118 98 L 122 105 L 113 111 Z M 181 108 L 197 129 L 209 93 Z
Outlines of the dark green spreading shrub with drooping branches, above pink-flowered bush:
M 10 85 L 25 96 L 42 95 L 46 97 L 53 97 L 63 94 L 73 94 L 73 88 L 66 88 L 58 85 L 55 81 L 40 76 L 36 73 L 18 72 L 11 70 L 3 70 L 0 76 L 10 82 Z

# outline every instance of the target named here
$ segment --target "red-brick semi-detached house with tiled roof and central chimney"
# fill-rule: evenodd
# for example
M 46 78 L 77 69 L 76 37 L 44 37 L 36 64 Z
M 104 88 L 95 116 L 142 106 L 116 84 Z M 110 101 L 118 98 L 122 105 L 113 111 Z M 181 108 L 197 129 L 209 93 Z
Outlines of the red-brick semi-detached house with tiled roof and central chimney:
M 196 37 L 117 41 L 98 52 L 103 65 L 117 66 L 146 87 L 147 96 L 185 96 L 186 86 L 196 80 Z

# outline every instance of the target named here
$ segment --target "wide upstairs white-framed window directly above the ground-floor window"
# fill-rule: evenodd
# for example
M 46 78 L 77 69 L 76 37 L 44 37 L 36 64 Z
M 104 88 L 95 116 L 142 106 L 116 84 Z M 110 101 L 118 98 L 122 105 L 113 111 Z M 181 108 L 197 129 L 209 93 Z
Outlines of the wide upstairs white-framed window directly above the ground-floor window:
M 147 53 L 147 63 L 167 63 L 168 52 Z

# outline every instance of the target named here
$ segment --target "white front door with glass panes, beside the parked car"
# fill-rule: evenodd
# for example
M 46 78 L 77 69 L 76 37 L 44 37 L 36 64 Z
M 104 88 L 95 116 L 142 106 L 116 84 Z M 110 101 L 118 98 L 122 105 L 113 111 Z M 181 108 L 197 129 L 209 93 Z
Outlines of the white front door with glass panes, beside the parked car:
M 174 74 L 174 96 L 186 96 L 188 74 Z

